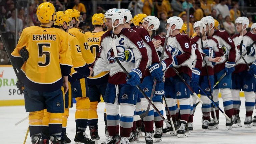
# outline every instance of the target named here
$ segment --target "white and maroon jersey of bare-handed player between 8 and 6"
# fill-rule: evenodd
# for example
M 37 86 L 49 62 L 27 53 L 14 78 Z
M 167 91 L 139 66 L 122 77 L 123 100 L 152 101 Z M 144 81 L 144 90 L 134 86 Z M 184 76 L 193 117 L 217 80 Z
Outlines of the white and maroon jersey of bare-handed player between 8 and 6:
M 204 61 L 206 61 L 209 75 L 213 75 L 214 74 L 214 70 L 213 70 L 214 65 L 212 62 L 210 62 L 208 60 L 209 56 L 207 56 L 203 53 L 201 38 L 199 36 L 195 36 L 191 39 L 191 41 L 194 42 L 195 45 L 193 45 L 193 46 L 197 47 L 197 49 L 202 54 Z M 204 47 L 204 49 L 214 50 L 215 57 L 223 56 L 223 51 L 222 51 L 221 47 L 219 46 L 218 41 L 213 37 L 207 37 L 207 40 L 203 40 L 203 47 Z M 205 62 L 203 62 L 203 65 L 202 65 L 201 75 L 203 75 L 203 76 L 207 75 L 206 68 L 205 68 Z

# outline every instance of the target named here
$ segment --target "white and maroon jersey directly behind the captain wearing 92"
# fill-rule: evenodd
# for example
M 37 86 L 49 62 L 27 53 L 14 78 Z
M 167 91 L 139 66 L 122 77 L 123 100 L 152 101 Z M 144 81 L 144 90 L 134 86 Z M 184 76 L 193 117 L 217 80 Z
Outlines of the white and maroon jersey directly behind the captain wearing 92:
M 131 29 L 136 31 L 136 33 L 140 36 L 144 46 L 147 49 L 148 63 L 147 63 L 146 68 L 148 68 L 149 66 L 151 66 L 154 63 L 159 63 L 159 57 L 157 55 L 155 46 L 149 36 L 148 31 L 146 29 L 144 29 L 142 26 L 134 26 L 134 27 L 131 27 Z M 150 75 L 150 72 L 148 69 L 146 69 L 144 75 L 145 76 Z

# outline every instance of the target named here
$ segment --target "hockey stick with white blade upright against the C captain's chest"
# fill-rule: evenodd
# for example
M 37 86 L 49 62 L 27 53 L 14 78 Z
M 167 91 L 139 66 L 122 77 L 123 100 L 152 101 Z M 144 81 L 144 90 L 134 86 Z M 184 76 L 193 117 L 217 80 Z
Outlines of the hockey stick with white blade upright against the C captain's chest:
M 117 50 L 116 50 L 116 45 L 113 43 L 113 39 L 111 38 L 111 45 L 112 45 L 112 49 L 115 55 L 115 60 L 118 63 L 118 65 L 122 68 L 122 70 L 125 72 L 125 74 L 131 78 L 130 74 L 128 73 L 128 71 L 123 67 L 123 65 L 120 63 L 118 57 L 117 57 Z M 150 101 L 150 99 L 146 96 L 146 94 L 143 92 L 143 90 L 136 85 L 136 87 L 139 89 L 139 91 L 142 93 L 142 95 L 146 98 L 146 100 L 152 105 L 152 107 L 156 110 L 156 112 L 159 114 L 159 116 L 164 120 L 164 122 L 166 123 L 167 126 L 171 127 L 171 125 L 168 123 L 168 120 L 166 120 L 164 118 L 164 116 L 159 112 L 159 110 L 156 108 L 156 106 Z

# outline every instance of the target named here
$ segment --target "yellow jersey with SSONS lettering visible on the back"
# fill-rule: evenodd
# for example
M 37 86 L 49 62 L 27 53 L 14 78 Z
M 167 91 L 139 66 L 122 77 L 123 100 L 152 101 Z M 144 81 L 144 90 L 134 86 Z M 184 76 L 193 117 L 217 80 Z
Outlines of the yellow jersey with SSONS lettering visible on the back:
M 87 37 L 86 46 L 91 50 L 92 54 L 95 58 L 98 57 L 99 49 L 100 49 L 100 40 L 101 36 L 104 34 L 104 31 L 101 32 L 86 32 L 85 35 Z M 109 71 L 101 72 L 100 74 L 94 77 L 87 77 L 87 81 L 89 84 L 102 84 L 103 82 L 107 82 Z

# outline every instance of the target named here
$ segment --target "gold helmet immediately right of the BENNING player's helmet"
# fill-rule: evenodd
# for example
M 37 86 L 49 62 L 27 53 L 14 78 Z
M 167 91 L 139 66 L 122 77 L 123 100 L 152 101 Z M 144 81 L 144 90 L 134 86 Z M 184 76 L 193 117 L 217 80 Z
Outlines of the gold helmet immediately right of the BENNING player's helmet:
M 54 25 L 56 26 L 62 26 L 64 22 L 67 23 L 68 26 L 72 27 L 72 18 L 69 14 L 65 13 L 64 11 L 58 11 L 56 13 L 56 21 L 54 22 Z

